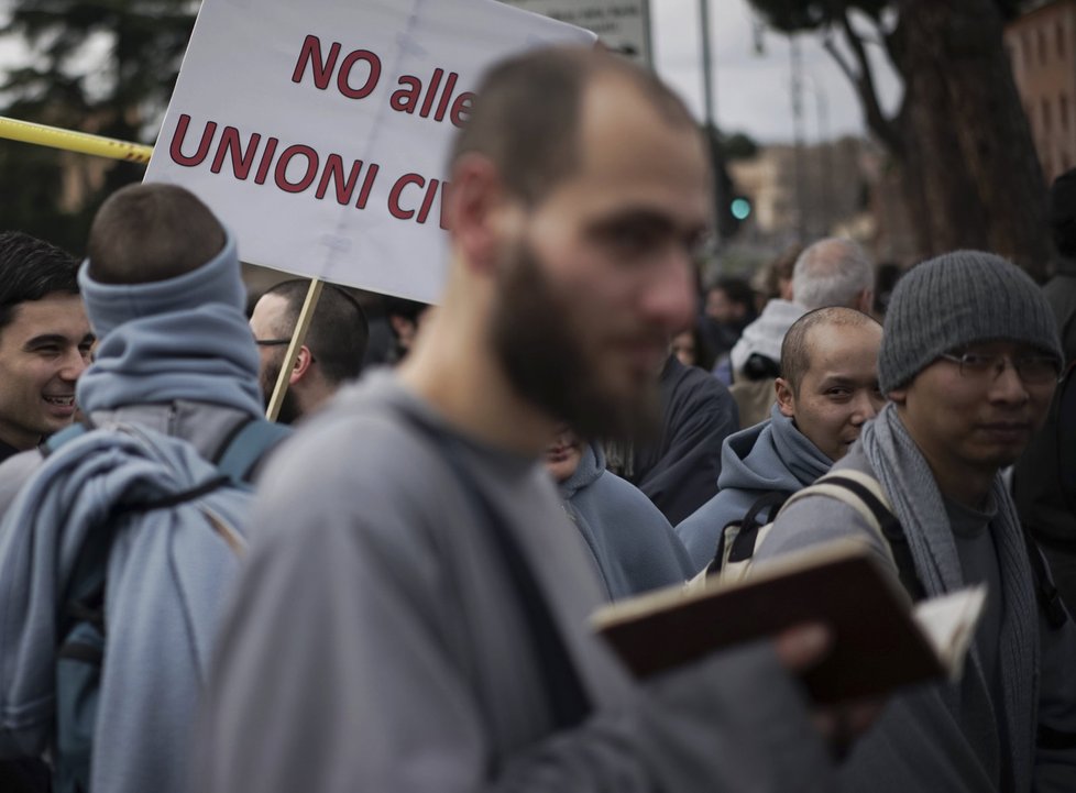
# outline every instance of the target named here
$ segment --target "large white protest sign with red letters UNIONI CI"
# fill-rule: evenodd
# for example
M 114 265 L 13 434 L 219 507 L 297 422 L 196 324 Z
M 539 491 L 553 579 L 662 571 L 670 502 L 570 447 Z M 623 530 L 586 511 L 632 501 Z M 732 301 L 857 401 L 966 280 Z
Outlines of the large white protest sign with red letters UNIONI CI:
M 432 302 L 481 73 L 593 40 L 495 0 L 205 0 L 146 180 L 196 192 L 246 262 Z

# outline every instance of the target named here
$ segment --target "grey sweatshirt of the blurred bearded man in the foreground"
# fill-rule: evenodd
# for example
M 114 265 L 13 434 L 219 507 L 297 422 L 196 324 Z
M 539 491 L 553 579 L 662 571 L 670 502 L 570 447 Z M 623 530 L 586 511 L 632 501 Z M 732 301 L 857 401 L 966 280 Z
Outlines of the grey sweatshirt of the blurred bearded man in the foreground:
M 537 461 L 457 437 L 589 691 L 555 731 L 504 559 L 388 374 L 276 455 L 201 730 L 201 793 L 802 791 L 832 771 L 767 647 L 633 682 L 586 617 L 602 601 Z

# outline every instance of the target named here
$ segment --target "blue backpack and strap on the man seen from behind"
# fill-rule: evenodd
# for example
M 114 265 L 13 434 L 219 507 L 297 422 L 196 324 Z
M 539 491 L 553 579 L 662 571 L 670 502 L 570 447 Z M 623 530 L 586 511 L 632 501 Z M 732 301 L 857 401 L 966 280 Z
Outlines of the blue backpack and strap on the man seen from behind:
M 76 423 L 52 436 L 43 448 L 47 456 L 95 428 Z M 120 431 L 131 431 L 118 427 Z M 136 432 L 143 432 L 138 430 Z M 290 428 L 263 418 L 240 425 L 223 440 L 212 462 L 219 476 L 201 485 L 153 503 L 120 503 L 109 510 L 108 524 L 124 514 L 176 508 L 201 499 L 207 528 L 219 533 L 222 548 L 240 555 L 242 536 L 212 509 L 212 494 L 233 488 L 252 494 L 251 474 L 264 454 L 290 433 Z M 143 434 L 146 434 L 143 432 Z M 90 790 L 91 760 L 100 698 L 101 675 L 108 626 L 105 603 L 107 569 L 114 527 L 92 532 L 81 547 L 75 572 L 66 591 L 65 614 L 58 620 L 56 653 L 56 720 L 54 789 L 57 793 Z

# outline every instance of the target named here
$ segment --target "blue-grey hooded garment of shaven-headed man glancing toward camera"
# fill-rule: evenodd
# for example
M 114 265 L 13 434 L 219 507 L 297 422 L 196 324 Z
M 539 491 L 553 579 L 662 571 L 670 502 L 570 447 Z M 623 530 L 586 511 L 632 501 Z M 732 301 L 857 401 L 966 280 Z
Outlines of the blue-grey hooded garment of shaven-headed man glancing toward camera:
M 830 470 L 833 461 L 782 416 L 777 405 L 770 418 L 729 436 L 721 450 L 717 495 L 677 526 L 691 557 L 692 570 L 714 558 L 721 531 L 742 520 L 751 505 L 773 491 L 795 493 Z M 772 516 L 761 514 L 760 519 Z

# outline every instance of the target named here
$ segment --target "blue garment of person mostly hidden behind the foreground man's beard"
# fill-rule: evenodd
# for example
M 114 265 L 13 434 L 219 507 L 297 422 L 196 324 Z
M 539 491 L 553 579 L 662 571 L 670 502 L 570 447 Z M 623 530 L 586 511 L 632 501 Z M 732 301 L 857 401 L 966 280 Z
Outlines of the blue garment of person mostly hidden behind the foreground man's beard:
M 611 599 L 683 583 L 688 554 L 644 493 L 605 470 L 597 445 L 583 448 L 575 473 L 558 486 Z

